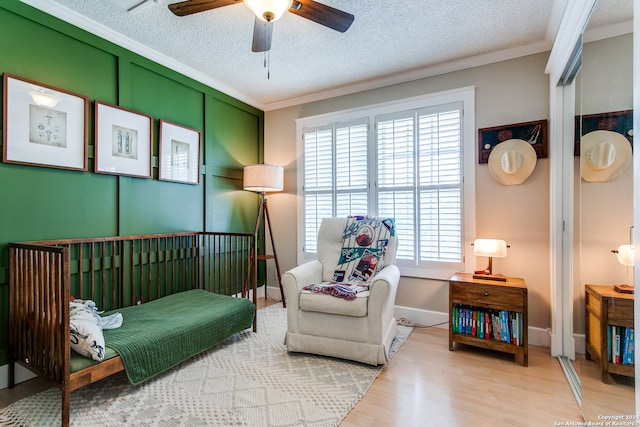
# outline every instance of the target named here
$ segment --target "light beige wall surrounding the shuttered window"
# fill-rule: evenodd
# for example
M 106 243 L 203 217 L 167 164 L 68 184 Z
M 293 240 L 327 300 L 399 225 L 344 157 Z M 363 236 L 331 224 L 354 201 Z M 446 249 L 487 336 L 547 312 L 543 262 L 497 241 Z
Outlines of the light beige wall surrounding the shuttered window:
M 265 162 L 285 167 L 285 191 L 269 196 L 269 212 L 281 269 L 285 271 L 296 265 L 298 153 L 295 119 L 464 86 L 476 88 L 478 128 L 547 119 L 549 82 L 544 73 L 547 57 L 548 54 L 531 55 L 266 112 Z M 476 153 L 473 155 L 477 158 Z M 548 328 L 551 322 L 548 189 L 547 159 L 538 159 L 536 169 L 523 184 L 509 187 L 494 181 L 487 165 L 479 165 L 476 161 L 477 235 L 502 238 L 511 246 L 507 258 L 494 259 L 494 271 L 526 280 L 529 325 L 541 329 Z M 486 260 L 478 263 L 484 264 Z M 474 265 L 474 262 L 469 263 L 469 268 Z M 273 277 L 272 273 L 269 277 Z M 269 286 L 275 284 L 269 283 Z M 446 282 L 401 278 L 396 306 L 447 313 L 447 303 Z

